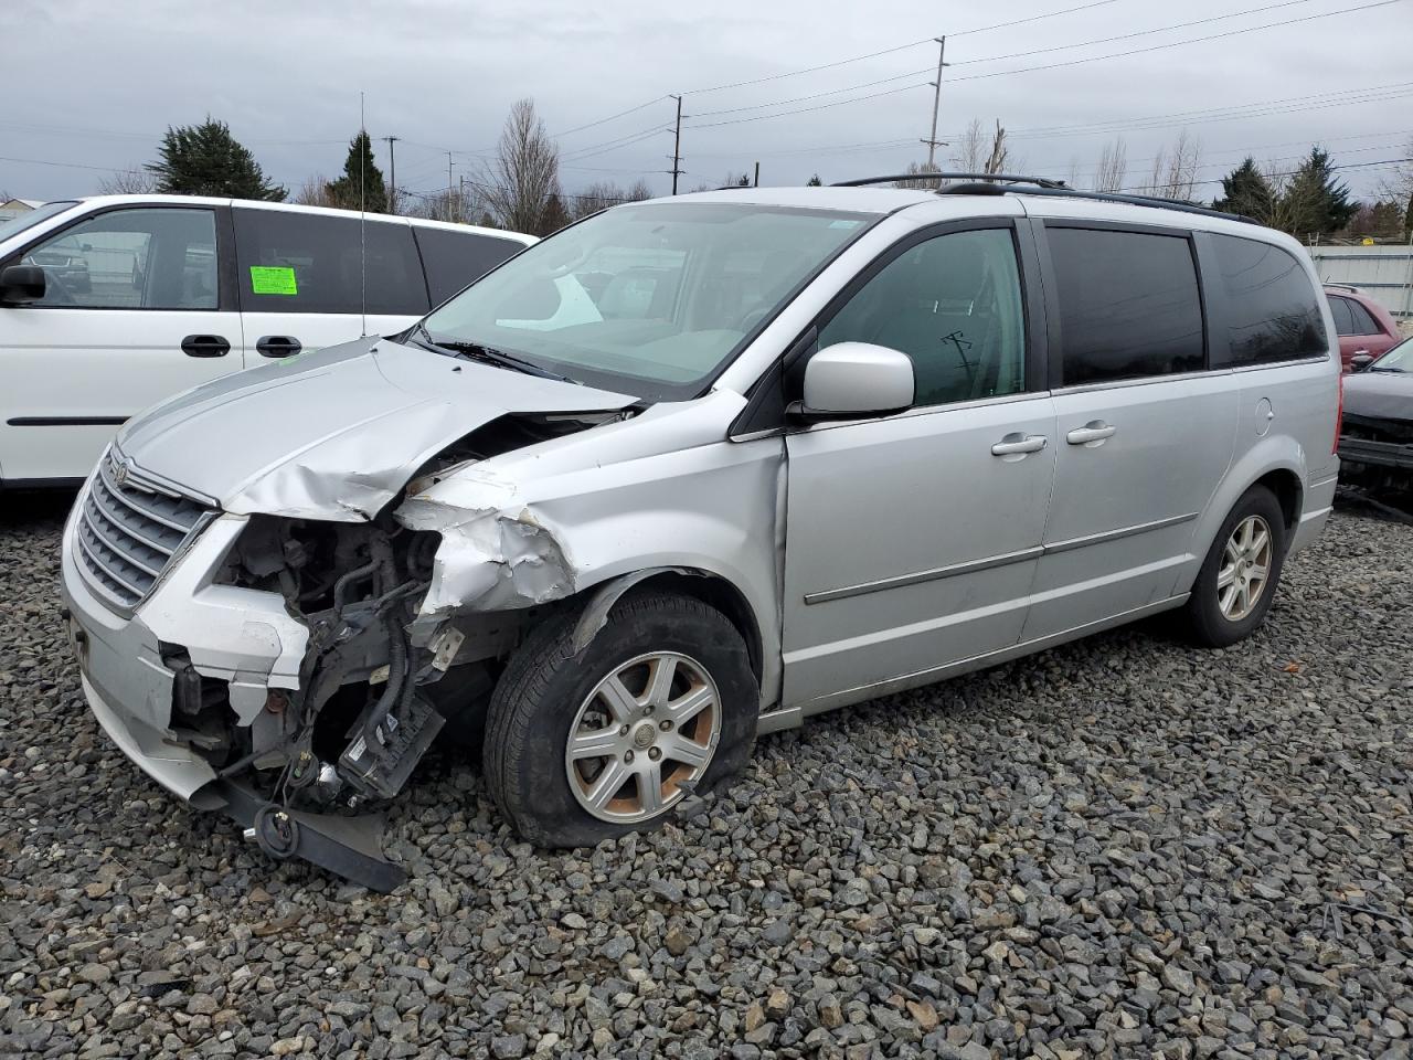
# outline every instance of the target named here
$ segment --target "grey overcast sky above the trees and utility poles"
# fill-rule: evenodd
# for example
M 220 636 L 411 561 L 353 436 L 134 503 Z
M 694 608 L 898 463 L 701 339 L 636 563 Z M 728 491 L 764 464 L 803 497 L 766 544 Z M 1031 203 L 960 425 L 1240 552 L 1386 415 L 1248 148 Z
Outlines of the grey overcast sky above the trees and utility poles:
M 0 192 L 93 194 L 107 171 L 151 160 L 168 124 L 208 113 L 294 191 L 342 167 L 359 90 L 369 133 L 401 137 L 397 182 L 413 192 L 445 188 L 448 150 L 454 179 L 479 178 L 523 96 L 560 134 L 568 192 L 640 175 L 666 192 L 673 134 L 650 130 L 671 124 L 668 93 L 684 93 L 684 188 L 756 161 L 762 184 L 894 172 L 926 157 L 933 89 L 923 82 L 937 62 L 928 38 L 941 34 L 955 65 L 942 78 L 940 139 L 955 140 L 974 117 L 999 119 L 1023 160 L 1013 168 L 1026 172 L 1077 170 L 1085 184 L 1102 144 L 1122 134 L 1129 182 L 1140 184 L 1183 129 L 1201 141 L 1204 179 L 1246 153 L 1293 165 L 1313 141 L 1340 164 L 1410 153 L 1413 0 L 1109 0 L 985 28 L 1084 3 L 3 0 Z M 1338 14 L 1313 18 L 1328 13 Z M 1188 25 L 1146 33 L 1177 23 Z M 1248 27 L 1272 28 L 1234 33 Z M 1217 34 L 1228 35 L 1157 47 Z M 779 76 L 883 49 L 893 51 Z M 1050 69 L 1022 72 L 1033 66 Z M 705 90 L 763 78 L 774 79 Z M 374 146 L 386 175 L 387 144 Z M 938 148 L 940 161 L 948 155 Z M 1341 175 L 1371 195 L 1388 174 Z

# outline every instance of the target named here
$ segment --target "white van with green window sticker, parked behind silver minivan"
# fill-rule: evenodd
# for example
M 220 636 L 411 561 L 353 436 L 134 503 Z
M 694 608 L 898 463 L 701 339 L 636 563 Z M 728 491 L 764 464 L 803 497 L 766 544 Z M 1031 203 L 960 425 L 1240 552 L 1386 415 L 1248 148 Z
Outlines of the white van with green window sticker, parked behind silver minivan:
M 147 406 L 401 331 L 534 242 L 185 195 L 51 202 L 0 225 L 0 485 L 78 485 Z

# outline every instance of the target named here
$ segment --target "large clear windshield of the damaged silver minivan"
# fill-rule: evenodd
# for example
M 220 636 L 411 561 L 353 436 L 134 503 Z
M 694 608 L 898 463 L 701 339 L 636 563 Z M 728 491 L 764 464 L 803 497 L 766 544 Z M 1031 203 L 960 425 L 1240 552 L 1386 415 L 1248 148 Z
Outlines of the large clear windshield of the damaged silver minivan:
M 875 219 L 746 202 L 617 206 L 521 252 L 420 334 L 605 390 L 694 397 Z

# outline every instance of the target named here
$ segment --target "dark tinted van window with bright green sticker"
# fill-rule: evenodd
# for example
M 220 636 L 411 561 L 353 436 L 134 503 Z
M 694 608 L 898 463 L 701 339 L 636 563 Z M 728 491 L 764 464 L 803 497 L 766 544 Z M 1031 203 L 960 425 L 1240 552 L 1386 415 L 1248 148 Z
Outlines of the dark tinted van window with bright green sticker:
M 363 307 L 357 218 L 240 209 L 236 259 L 240 308 L 256 312 L 359 312 Z M 407 225 L 369 220 L 367 311 L 427 312 L 427 285 Z

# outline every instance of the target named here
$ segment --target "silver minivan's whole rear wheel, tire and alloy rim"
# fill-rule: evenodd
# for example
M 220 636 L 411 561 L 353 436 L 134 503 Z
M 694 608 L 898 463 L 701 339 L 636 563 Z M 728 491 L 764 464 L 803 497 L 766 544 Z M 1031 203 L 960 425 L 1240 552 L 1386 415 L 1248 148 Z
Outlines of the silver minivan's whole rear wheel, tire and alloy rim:
M 1217 533 L 1184 608 L 1186 632 L 1205 647 L 1226 647 L 1259 626 L 1286 561 L 1286 519 L 1276 495 L 1252 486 Z

